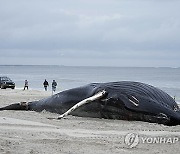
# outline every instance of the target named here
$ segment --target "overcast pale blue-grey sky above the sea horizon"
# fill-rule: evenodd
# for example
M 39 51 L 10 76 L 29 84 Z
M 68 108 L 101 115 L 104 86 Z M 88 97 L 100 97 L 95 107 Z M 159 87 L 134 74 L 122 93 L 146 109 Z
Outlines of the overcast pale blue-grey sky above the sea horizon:
M 180 67 L 180 0 L 0 0 L 0 65 Z

